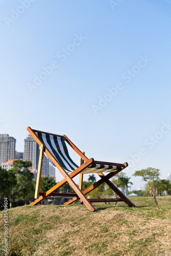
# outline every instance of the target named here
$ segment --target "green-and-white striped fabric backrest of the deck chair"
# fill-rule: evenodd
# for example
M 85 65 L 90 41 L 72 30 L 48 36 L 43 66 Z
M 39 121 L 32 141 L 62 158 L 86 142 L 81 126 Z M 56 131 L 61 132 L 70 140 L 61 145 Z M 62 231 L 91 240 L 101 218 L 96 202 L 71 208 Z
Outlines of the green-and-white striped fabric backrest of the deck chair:
M 78 165 L 74 163 L 68 153 L 65 138 L 40 132 L 35 132 L 35 134 L 67 172 L 73 172 L 73 170 L 78 168 Z M 54 166 L 50 159 L 49 161 Z

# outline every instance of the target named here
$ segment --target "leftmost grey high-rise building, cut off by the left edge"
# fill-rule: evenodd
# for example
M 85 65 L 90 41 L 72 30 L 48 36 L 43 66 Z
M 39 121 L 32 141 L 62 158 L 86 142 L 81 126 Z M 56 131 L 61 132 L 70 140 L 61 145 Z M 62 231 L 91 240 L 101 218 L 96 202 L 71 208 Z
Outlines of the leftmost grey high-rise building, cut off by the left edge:
M 15 158 L 16 139 L 8 134 L 0 134 L 0 165 Z

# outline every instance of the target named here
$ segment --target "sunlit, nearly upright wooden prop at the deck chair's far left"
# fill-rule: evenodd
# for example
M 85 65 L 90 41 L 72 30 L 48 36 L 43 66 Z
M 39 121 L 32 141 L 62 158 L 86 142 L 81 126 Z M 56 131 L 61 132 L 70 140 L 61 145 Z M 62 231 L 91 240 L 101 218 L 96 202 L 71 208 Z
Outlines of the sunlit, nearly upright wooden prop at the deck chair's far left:
M 44 150 L 45 150 L 45 146 L 41 145 L 40 146 L 39 161 L 38 161 L 36 188 L 35 188 L 35 194 L 34 194 L 34 198 L 36 198 L 36 199 L 39 197 L 41 169 L 42 169 L 42 162 L 43 162 L 43 159 L 44 159 Z

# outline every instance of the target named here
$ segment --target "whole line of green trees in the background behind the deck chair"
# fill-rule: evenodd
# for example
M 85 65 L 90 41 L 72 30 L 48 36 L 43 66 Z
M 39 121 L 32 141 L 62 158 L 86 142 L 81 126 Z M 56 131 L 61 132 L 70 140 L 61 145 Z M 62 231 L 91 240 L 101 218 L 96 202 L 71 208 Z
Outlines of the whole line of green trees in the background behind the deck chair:
M 34 191 L 36 181 L 34 175 L 30 173 L 30 161 L 16 160 L 13 162 L 11 170 L 5 170 L 0 166 L 0 203 L 3 205 L 4 198 L 8 197 L 10 207 L 29 204 L 34 200 Z M 143 181 L 147 182 L 145 191 L 133 190 L 130 193 L 135 193 L 138 196 L 153 196 L 157 205 L 157 196 L 171 195 L 171 183 L 168 180 L 159 179 L 159 170 L 155 168 L 146 168 L 137 170 L 134 176 L 142 177 Z M 116 187 L 122 188 L 125 195 L 129 195 L 129 184 L 131 178 L 127 177 L 125 173 L 118 173 L 112 179 Z M 82 190 L 85 190 L 96 182 L 94 174 L 89 176 L 88 181 L 83 181 Z M 45 192 L 56 184 L 52 177 L 41 177 L 40 192 Z M 56 190 L 60 193 L 74 193 L 74 190 L 66 183 Z M 115 198 L 117 195 L 105 183 L 101 184 L 90 193 L 87 194 L 90 198 Z M 115 203 L 116 204 L 116 203 Z

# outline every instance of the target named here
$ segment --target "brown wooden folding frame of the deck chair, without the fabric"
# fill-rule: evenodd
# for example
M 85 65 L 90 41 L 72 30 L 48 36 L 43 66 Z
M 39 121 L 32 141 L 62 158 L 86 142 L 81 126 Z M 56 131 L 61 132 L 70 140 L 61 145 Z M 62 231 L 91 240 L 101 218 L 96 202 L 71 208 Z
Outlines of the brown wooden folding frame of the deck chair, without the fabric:
M 93 158 L 87 158 L 84 155 L 84 152 L 81 152 L 73 143 L 72 141 L 67 138 L 66 135 L 56 135 L 56 134 L 50 134 L 45 133 L 37 130 L 33 130 L 30 127 L 27 127 L 28 132 L 31 134 L 31 136 L 35 139 L 35 141 L 40 146 L 40 155 L 39 155 L 39 163 L 38 163 L 38 170 L 37 170 L 37 180 L 36 180 L 36 188 L 35 188 L 35 201 L 31 203 L 31 205 L 36 205 L 37 203 L 41 202 L 48 196 L 71 196 L 73 197 L 68 202 L 65 202 L 65 205 L 71 204 L 75 202 L 76 200 L 80 200 L 80 202 L 84 203 L 89 210 L 95 211 L 96 208 L 92 205 L 92 202 L 116 202 L 116 201 L 124 201 L 129 207 L 136 207 L 109 179 L 111 179 L 114 175 L 118 174 L 128 166 L 128 164 L 125 162 L 123 164 L 120 163 L 112 163 L 112 162 L 101 162 L 101 161 L 95 161 Z M 68 174 L 66 170 L 60 165 L 60 163 L 56 160 L 56 158 L 50 153 L 48 148 L 46 148 L 45 144 L 41 142 L 41 140 L 38 138 L 38 136 L 35 134 L 35 132 L 49 134 L 53 136 L 58 136 L 65 138 L 65 141 L 73 148 L 73 150 L 81 157 L 81 164 L 80 166 L 74 170 L 72 173 Z M 53 164 L 57 167 L 59 172 L 62 174 L 63 179 L 58 182 L 55 186 L 50 188 L 48 191 L 42 193 L 39 192 L 40 187 L 40 178 L 41 178 L 41 169 L 42 169 L 42 161 L 45 154 L 49 157 L 49 159 L 53 162 Z M 95 182 L 93 185 L 82 191 L 82 181 L 83 181 L 83 174 L 81 172 L 86 169 L 91 164 L 106 164 L 106 165 L 114 165 L 118 166 L 118 169 L 115 169 L 113 172 L 107 174 L 106 176 L 103 173 L 97 173 L 97 175 L 101 178 L 97 182 Z M 79 174 L 79 186 L 76 185 L 76 183 L 73 181 L 73 178 Z M 75 193 L 54 193 L 54 191 L 61 186 L 63 186 L 66 183 L 69 183 Z M 112 198 L 112 199 L 88 199 L 86 197 L 86 194 L 88 194 L 90 191 L 101 185 L 102 183 L 108 184 L 115 193 L 120 198 Z

